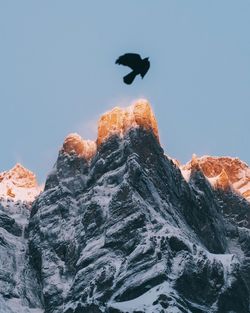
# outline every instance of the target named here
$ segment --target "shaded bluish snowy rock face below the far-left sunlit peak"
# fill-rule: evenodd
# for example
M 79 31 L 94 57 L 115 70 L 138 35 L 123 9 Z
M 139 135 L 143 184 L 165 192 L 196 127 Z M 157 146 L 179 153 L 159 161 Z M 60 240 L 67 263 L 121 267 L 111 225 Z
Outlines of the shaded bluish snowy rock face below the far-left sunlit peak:
M 36 274 L 29 266 L 30 204 L 0 201 L 0 312 L 42 313 Z M 36 308 L 36 309 L 35 309 Z

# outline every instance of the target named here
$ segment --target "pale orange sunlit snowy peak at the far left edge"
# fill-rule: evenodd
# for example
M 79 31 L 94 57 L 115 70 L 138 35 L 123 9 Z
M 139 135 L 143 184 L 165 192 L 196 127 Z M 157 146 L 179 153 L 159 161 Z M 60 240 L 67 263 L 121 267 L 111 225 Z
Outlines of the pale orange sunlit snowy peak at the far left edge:
M 17 163 L 9 171 L 0 173 L 0 197 L 15 201 L 32 202 L 41 192 L 36 176 L 27 168 Z

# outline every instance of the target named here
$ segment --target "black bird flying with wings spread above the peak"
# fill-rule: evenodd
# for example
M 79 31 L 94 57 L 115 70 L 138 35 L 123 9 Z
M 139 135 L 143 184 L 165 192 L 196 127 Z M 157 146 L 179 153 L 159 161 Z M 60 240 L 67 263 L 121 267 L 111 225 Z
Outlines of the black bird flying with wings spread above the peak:
M 146 75 L 150 67 L 148 59 L 142 59 L 137 53 L 125 53 L 116 60 L 115 64 L 125 65 L 132 69 L 132 72 L 123 77 L 125 84 L 132 84 L 137 75 L 141 75 L 141 78 Z

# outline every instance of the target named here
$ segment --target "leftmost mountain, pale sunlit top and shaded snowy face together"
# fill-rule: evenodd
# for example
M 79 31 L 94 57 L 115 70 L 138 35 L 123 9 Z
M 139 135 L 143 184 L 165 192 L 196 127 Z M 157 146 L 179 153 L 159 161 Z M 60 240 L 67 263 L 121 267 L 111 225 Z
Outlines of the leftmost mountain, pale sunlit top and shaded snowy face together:
M 0 312 L 41 313 L 42 294 L 29 266 L 26 231 L 29 200 L 39 187 L 34 174 L 20 164 L 0 177 Z M 22 201 L 25 197 L 28 202 Z

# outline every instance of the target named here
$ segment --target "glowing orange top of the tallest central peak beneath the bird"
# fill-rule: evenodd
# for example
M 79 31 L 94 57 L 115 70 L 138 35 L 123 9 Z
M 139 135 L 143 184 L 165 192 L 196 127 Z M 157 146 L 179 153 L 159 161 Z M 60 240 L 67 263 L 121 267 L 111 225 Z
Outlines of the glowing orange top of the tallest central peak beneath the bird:
M 97 145 L 112 135 L 123 136 L 132 127 L 153 131 L 159 141 L 157 122 L 147 100 L 139 99 L 127 108 L 115 107 L 104 113 L 98 122 Z

